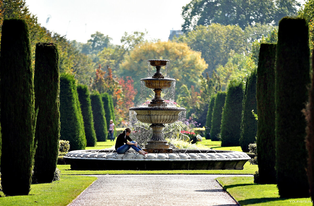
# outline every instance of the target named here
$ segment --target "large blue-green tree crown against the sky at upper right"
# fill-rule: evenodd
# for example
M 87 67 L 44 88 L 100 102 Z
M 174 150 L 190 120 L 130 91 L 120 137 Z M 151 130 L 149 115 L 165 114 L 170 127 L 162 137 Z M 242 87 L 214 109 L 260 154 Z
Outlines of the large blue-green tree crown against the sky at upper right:
M 277 24 L 282 17 L 295 15 L 297 7 L 300 3 L 295 0 L 192 0 L 182 7 L 182 30 L 213 23 L 239 25 L 242 29 L 253 23 Z

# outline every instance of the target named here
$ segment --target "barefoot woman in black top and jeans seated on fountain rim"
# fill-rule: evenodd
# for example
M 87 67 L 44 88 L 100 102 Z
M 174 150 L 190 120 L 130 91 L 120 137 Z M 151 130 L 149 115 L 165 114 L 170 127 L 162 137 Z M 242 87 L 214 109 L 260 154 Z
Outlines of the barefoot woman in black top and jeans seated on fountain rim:
M 131 147 L 137 151 L 139 154 L 145 155 L 147 152 L 143 151 L 138 145 L 137 142 L 133 141 L 129 135 L 131 133 L 131 129 L 127 127 L 123 133 L 119 134 L 116 139 L 116 152 L 118 154 L 123 154 Z M 129 140 L 129 142 L 127 141 Z M 124 144 L 125 143 L 125 144 Z

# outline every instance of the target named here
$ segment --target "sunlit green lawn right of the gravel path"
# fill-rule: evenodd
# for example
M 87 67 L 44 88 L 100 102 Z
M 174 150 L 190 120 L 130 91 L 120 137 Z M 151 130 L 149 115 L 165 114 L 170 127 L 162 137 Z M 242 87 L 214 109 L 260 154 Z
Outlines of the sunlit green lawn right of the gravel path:
M 310 201 L 311 198 L 279 198 L 277 185 L 254 184 L 253 177 L 219 177 L 217 178 L 217 181 L 241 205 L 277 206 L 291 205 L 291 203 L 297 203 L 297 205 L 312 205 L 312 203 L 308 202 L 297 202 Z

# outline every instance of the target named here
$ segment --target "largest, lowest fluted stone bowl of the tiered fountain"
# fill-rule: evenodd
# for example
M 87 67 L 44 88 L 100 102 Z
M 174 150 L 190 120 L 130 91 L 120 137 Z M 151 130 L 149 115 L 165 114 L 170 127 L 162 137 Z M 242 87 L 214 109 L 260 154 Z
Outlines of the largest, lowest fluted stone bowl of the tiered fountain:
M 135 111 L 140 122 L 170 124 L 179 119 L 181 111 L 187 110 L 183 107 L 131 107 L 129 111 Z

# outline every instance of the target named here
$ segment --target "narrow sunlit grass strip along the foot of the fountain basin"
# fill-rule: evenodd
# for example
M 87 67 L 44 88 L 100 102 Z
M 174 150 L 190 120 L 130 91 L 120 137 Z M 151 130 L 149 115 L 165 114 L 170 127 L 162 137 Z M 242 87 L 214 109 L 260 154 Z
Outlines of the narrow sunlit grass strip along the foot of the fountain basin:
M 70 165 L 57 165 L 62 175 L 104 175 L 104 174 L 254 174 L 257 165 L 246 162 L 243 170 L 71 170 Z

